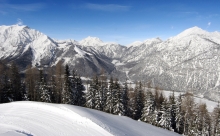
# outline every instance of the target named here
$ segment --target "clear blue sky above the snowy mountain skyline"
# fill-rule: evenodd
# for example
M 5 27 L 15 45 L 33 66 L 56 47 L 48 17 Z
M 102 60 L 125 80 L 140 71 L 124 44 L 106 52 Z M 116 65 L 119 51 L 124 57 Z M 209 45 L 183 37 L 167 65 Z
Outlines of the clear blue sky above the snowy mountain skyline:
M 88 36 L 127 45 L 166 40 L 198 26 L 220 32 L 220 0 L 0 0 L 0 25 L 23 24 L 55 39 Z

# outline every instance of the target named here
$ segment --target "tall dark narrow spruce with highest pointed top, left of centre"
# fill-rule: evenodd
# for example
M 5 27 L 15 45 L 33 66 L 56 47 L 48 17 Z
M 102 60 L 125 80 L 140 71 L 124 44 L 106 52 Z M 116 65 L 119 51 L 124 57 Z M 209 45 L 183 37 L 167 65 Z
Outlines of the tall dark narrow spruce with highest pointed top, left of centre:
M 65 104 L 72 104 L 72 90 L 71 90 L 71 84 L 70 84 L 70 71 L 69 66 L 65 66 L 65 73 L 64 73 L 64 85 L 62 90 L 62 103 Z

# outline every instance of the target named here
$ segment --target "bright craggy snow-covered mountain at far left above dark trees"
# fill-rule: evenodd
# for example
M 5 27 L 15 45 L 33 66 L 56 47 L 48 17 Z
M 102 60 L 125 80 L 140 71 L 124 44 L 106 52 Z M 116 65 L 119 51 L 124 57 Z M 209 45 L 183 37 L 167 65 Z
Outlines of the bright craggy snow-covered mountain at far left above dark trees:
M 19 60 L 19 63 L 50 63 L 57 45 L 45 34 L 27 26 L 0 27 L 0 58 L 7 61 Z

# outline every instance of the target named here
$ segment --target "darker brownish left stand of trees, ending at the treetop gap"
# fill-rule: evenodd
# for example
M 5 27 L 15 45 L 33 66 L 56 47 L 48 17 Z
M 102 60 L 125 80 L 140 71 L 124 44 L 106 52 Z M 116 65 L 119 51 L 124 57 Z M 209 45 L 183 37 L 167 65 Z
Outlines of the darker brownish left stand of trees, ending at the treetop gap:
M 83 106 L 84 86 L 80 76 L 58 62 L 55 68 L 28 66 L 23 76 L 18 67 L 0 62 L 0 102 L 40 101 Z

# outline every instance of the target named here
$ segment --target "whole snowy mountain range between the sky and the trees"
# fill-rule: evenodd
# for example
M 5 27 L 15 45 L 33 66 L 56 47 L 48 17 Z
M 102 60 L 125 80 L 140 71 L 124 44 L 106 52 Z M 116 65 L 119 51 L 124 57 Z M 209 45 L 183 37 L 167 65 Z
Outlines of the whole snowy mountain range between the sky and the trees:
M 58 61 L 85 77 L 100 74 L 121 81 L 148 82 L 165 90 L 192 91 L 219 100 L 220 33 L 189 28 L 166 41 L 160 38 L 129 46 L 96 37 L 54 40 L 28 26 L 0 26 L 0 59 L 27 65 L 54 66 Z

